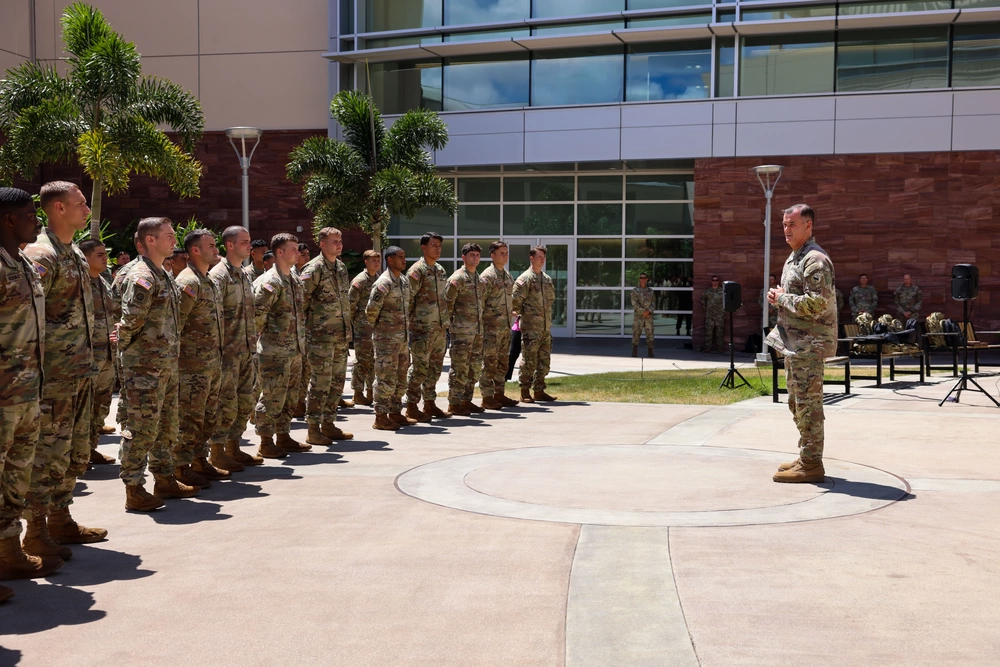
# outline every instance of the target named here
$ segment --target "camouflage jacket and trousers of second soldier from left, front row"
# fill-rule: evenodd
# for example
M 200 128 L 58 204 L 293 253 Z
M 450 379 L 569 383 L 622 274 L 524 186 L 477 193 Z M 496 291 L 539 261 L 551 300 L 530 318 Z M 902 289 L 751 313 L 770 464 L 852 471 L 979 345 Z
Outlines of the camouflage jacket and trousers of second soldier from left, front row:
M 74 244 L 64 244 L 46 227 L 24 254 L 34 261 L 45 291 L 42 427 L 28 491 L 29 511 L 38 518 L 70 506 L 76 478 L 90 462 L 94 303 L 87 258 Z

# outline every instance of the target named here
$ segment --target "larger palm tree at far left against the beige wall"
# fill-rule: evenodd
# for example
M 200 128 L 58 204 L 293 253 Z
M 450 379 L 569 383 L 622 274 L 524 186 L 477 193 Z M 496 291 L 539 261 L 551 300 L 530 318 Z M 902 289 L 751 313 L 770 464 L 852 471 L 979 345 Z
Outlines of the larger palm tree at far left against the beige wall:
M 0 183 L 32 178 L 43 162 L 74 156 L 93 180 L 91 235 L 100 233 L 101 194 L 128 189 L 129 176 L 166 181 L 181 197 L 198 196 L 194 152 L 204 128 L 201 104 L 166 79 L 142 76 L 135 44 L 81 2 L 62 15 L 69 72 L 25 63 L 0 80 Z M 161 130 L 176 132 L 174 143 Z

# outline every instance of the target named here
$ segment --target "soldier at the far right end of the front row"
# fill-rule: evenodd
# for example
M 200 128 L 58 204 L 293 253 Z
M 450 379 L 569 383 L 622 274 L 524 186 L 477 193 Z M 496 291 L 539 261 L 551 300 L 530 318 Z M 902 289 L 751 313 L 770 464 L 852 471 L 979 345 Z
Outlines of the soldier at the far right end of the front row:
M 552 278 L 542 271 L 545 254 L 545 246 L 535 246 L 528 252 L 531 266 L 514 281 L 511 298 L 511 309 L 521 320 L 518 381 L 525 403 L 556 400 L 545 393 L 545 376 L 552 357 L 552 303 L 556 298 Z

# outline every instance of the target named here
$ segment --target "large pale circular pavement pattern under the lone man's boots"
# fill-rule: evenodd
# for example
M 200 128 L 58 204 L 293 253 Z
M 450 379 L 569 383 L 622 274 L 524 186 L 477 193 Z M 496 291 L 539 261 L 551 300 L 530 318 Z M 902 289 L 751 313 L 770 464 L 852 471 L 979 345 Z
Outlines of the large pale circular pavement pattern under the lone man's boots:
M 789 455 L 679 445 L 575 445 L 471 454 L 409 470 L 403 493 L 514 519 L 612 526 L 740 526 L 870 512 L 905 480 L 827 459 L 823 484 L 775 484 Z

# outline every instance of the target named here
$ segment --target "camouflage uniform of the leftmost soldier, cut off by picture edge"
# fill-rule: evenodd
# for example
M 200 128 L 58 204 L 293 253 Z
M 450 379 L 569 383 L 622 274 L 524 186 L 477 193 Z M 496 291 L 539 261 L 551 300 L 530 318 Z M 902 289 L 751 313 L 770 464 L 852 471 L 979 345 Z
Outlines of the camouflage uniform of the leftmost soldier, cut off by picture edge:
M 0 248 L 0 538 L 21 532 L 41 427 L 45 295 L 24 253 Z

